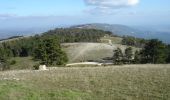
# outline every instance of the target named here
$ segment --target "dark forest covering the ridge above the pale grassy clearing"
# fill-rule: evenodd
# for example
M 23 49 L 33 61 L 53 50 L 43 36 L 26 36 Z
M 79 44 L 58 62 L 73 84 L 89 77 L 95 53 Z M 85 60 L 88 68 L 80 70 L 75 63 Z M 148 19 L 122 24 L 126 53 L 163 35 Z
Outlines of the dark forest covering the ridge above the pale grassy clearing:
M 45 32 L 43 36 L 56 36 L 60 42 L 99 42 L 100 38 L 106 34 L 111 35 L 109 31 L 96 29 L 80 29 L 80 28 L 57 28 Z

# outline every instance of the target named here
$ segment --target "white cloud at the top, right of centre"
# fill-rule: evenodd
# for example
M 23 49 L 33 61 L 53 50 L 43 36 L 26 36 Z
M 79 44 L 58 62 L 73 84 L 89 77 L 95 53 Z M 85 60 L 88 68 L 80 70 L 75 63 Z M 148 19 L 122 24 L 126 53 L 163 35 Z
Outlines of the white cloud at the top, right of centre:
M 135 6 L 139 0 L 84 0 L 90 7 L 88 12 L 111 14 L 115 10 Z M 92 7 L 92 8 L 91 8 Z

